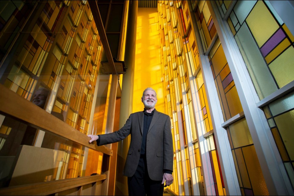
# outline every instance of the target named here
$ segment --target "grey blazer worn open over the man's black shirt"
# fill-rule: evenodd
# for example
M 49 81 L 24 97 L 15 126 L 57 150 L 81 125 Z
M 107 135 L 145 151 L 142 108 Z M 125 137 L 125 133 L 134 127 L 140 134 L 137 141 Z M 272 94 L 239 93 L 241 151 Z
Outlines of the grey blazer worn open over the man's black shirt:
M 124 175 L 131 177 L 137 169 L 143 134 L 144 112 L 136 112 L 129 116 L 126 124 L 118 131 L 99 135 L 99 145 L 121 141 L 131 134 L 131 142 L 126 157 Z M 146 159 L 150 179 L 162 180 L 163 171 L 173 167 L 173 145 L 171 120 L 168 115 L 154 111 L 146 138 Z

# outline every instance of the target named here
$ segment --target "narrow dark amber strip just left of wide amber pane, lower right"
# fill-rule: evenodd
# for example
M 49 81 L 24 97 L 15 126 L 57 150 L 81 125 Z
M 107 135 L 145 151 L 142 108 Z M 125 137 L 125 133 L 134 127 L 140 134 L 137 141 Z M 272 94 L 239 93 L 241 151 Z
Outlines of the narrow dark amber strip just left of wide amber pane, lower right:
M 247 174 L 247 168 L 246 168 L 246 165 L 244 162 L 243 153 L 242 153 L 241 148 L 235 149 L 235 153 L 236 153 L 236 161 L 237 161 L 237 162 L 235 162 L 235 164 L 238 164 L 243 187 L 251 189 L 249 177 Z

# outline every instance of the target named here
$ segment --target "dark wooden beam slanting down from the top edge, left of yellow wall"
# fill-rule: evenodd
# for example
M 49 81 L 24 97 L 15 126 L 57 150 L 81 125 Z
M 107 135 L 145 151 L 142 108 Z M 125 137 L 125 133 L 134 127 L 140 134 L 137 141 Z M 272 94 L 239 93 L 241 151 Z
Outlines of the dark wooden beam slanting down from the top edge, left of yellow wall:
M 110 64 L 113 70 L 113 73 L 117 74 L 97 3 L 96 1 L 88 1 L 88 2 L 93 14 L 93 18 L 94 18 L 99 36 L 101 38 L 101 42 L 103 45 L 104 52 L 106 54 L 107 61 Z

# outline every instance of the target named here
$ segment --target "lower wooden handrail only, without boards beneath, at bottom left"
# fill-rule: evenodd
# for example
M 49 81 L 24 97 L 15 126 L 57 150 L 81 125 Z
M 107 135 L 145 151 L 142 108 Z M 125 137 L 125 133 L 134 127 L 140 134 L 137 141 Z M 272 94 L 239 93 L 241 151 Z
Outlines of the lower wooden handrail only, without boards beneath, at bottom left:
M 106 175 L 93 175 L 73 179 L 54 180 L 0 189 L 0 195 L 49 195 L 81 187 L 106 179 Z

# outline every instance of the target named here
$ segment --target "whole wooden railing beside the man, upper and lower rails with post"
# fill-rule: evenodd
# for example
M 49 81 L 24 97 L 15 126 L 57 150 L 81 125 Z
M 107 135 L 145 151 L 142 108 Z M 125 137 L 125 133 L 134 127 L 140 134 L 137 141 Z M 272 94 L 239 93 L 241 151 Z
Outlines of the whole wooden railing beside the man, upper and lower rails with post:
M 0 84 L 0 113 L 25 121 L 44 131 L 57 134 L 89 149 L 103 153 L 101 175 L 54 180 L 41 183 L 29 183 L 20 186 L 0 188 L 0 195 L 105 195 L 107 194 L 110 156 L 113 151 L 105 146 L 89 143 L 89 137 L 67 123 L 49 114 L 47 111 L 24 99 Z M 32 146 L 31 146 L 32 147 Z M 22 147 L 23 148 L 23 147 Z M 35 147 L 37 148 L 37 147 Z M 20 148 L 21 149 L 21 148 Z M 28 151 L 30 152 L 30 151 Z M 19 156 L 19 154 L 17 155 Z M 17 160 L 19 157 L 15 158 Z M 40 157 L 42 159 L 42 157 Z M 14 162 L 15 167 L 16 162 Z M 12 170 L 14 168 L 11 168 Z M 10 177 L 12 173 L 10 174 Z M 25 184 L 25 182 L 24 182 Z

